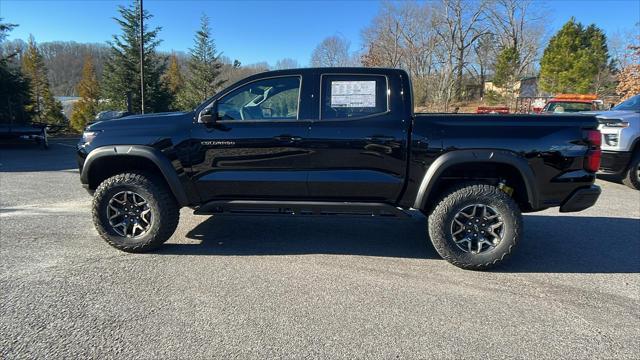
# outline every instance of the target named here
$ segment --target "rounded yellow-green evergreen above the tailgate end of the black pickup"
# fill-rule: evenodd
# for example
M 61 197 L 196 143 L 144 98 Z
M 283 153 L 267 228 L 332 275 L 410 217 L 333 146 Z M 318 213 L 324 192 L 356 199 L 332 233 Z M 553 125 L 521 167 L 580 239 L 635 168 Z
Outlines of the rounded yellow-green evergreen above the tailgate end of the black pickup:
M 610 68 L 606 36 L 595 25 L 586 29 L 571 18 L 544 50 L 540 86 L 551 93 L 596 92 Z

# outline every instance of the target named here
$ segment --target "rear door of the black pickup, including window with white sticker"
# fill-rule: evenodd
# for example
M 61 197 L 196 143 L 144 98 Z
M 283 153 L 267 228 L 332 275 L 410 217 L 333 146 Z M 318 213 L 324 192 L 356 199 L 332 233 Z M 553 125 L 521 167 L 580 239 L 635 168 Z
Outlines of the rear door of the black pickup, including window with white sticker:
M 309 134 L 309 195 L 395 202 L 405 178 L 407 129 L 398 76 L 323 74 Z

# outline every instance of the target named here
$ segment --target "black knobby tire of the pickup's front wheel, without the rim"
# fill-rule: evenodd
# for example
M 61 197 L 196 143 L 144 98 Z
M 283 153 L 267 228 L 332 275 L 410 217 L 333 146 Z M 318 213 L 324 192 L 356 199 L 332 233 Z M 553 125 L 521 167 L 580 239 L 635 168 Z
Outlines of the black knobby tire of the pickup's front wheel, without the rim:
M 133 191 L 146 199 L 152 211 L 150 228 L 139 237 L 116 233 L 107 218 L 110 199 L 122 191 Z M 128 172 L 104 180 L 93 197 L 93 223 L 100 236 L 111 246 L 126 252 L 146 252 L 157 248 L 173 235 L 180 211 L 173 194 L 162 179 L 147 172 Z

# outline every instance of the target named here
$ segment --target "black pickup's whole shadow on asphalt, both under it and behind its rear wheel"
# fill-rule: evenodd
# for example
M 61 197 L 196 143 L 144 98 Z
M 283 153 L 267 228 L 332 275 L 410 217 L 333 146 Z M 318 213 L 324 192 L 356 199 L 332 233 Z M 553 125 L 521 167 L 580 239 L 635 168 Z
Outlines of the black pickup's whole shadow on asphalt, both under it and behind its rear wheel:
M 525 237 L 495 272 L 640 272 L 640 219 L 525 216 Z M 440 259 L 424 218 L 212 216 L 189 231 L 198 243 L 169 243 L 159 254 L 342 254 Z M 444 265 L 444 264 L 443 264 Z

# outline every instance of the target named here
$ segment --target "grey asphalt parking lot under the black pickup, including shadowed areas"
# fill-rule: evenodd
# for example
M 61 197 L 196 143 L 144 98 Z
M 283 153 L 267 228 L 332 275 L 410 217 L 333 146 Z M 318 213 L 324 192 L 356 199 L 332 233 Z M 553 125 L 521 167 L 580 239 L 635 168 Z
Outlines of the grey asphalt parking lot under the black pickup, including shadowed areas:
M 422 218 L 201 217 L 103 242 L 72 140 L 0 147 L 0 358 L 638 358 L 640 192 L 525 216 L 491 272 Z

